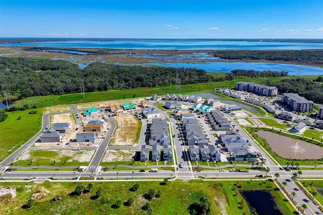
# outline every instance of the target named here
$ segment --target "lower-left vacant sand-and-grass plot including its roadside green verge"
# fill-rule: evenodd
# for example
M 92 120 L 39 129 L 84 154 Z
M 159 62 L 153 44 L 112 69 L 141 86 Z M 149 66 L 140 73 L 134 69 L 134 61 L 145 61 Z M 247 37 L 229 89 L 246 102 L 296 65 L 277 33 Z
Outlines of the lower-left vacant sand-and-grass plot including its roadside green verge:
M 18 157 L 18 162 L 19 166 L 23 167 L 40 165 L 60 167 L 65 160 L 65 166 L 86 166 L 94 152 L 95 150 L 27 150 Z M 14 165 L 17 165 L 17 162 Z

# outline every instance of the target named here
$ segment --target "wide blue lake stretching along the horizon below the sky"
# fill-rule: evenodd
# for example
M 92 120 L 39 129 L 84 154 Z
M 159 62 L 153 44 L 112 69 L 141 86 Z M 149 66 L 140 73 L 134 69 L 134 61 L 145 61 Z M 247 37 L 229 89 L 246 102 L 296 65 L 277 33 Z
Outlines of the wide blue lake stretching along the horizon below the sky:
M 122 48 L 122 49 L 317 49 L 322 43 L 247 42 L 212 39 L 109 39 L 102 41 L 51 41 L 8 43 L 1 46 L 36 45 L 48 47 Z

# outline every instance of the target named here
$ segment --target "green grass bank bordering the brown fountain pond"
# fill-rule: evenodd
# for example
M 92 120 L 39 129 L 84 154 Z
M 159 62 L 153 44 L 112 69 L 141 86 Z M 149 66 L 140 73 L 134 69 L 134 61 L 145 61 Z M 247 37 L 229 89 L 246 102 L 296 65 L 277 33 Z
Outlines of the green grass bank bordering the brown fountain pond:
M 246 127 L 247 132 L 249 132 L 251 134 L 251 136 L 255 137 L 256 141 L 270 154 L 272 155 L 272 157 L 280 164 L 280 165 L 286 165 L 287 163 L 291 163 L 293 162 L 298 163 L 299 165 L 304 165 L 304 166 L 315 166 L 315 165 L 323 165 L 323 160 L 322 159 L 318 159 L 318 160 L 297 160 L 297 159 L 286 159 L 283 157 L 280 157 L 276 152 L 272 151 L 269 146 L 268 143 L 261 137 L 255 136 L 255 134 L 253 132 L 257 131 L 257 130 L 264 130 L 264 131 L 270 131 L 270 132 L 274 132 L 274 133 L 279 133 L 281 135 L 285 135 L 285 133 L 279 132 L 279 131 L 275 131 L 275 130 L 271 130 L 271 129 L 266 129 L 266 128 L 250 128 L 250 127 Z M 287 135 L 286 135 L 287 136 Z M 294 136 L 290 136 L 290 137 L 294 137 Z M 309 141 L 310 142 L 310 141 Z M 310 142 L 311 143 L 311 142 Z

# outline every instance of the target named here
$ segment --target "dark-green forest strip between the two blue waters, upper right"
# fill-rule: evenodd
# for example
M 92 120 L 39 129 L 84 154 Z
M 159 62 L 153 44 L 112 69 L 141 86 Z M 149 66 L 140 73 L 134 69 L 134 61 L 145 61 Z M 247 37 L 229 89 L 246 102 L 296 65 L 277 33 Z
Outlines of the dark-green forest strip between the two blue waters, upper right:
M 292 61 L 323 64 L 323 49 L 311 50 L 214 50 L 210 55 L 226 60 Z

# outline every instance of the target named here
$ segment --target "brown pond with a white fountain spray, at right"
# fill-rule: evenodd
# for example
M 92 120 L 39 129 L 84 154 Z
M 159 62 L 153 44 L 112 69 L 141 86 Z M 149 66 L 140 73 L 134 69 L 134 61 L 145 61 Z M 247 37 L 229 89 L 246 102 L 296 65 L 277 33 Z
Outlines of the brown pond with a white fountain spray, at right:
M 279 156 L 292 159 L 321 159 L 323 147 L 302 140 L 279 135 L 270 131 L 259 130 L 255 132 L 266 140 L 269 146 Z

